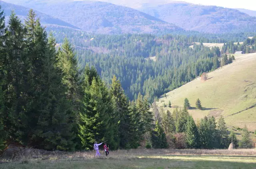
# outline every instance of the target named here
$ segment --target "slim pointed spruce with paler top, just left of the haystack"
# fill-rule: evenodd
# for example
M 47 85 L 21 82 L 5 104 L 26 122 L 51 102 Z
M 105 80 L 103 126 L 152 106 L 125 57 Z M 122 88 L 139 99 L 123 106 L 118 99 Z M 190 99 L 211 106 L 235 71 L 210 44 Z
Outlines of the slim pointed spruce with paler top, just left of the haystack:
M 219 138 L 219 147 L 226 148 L 228 147 L 228 128 L 226 127 L 226 122 L 223 116 L 220 116 L 218 120 L 218 138 Z

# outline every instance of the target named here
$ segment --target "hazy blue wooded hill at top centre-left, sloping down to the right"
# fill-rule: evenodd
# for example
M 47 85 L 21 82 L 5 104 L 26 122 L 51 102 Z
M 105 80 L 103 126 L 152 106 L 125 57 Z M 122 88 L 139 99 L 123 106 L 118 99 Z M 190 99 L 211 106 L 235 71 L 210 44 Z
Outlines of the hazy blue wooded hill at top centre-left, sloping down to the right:
M 164 33 L 182 30 L 138 10 L 106 2 L 47 2 L 29 1 L 27 6 L 94 33 Z

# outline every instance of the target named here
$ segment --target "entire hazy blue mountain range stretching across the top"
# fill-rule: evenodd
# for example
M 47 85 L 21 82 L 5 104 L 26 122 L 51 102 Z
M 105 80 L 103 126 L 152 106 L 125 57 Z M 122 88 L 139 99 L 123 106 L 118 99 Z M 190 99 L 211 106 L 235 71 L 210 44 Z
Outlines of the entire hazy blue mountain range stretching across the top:
M 253 11 L 182 1 L 5 1 L 36 9 L 92 33 L 170 33 L 182 29 L 204 33 L 256 32 L 256 17 L 246 14 L 253 15 Z

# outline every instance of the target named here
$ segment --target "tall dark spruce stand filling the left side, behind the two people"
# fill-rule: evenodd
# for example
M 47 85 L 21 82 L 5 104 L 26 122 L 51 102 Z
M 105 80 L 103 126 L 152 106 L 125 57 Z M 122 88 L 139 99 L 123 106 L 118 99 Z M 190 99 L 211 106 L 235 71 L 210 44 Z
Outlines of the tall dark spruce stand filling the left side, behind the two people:
M 0 13 L 0 145 L 46 150 L 136 148 L 152 128 L 152 112 L 139 96 L 129 102 L 120 81 L 107 86 L 96 69 L 78 71 L 67 39 L 56 41 L 33 10 L 25 24 Z

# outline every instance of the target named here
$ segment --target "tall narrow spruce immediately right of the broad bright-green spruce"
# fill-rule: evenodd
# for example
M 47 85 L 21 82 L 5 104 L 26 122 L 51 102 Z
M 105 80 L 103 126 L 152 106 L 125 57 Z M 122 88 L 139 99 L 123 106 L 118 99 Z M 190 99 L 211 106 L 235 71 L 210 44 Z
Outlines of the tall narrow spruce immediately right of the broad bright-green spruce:
M 112 85 L 110 88 L 112 95 L 112 104 L 114 108 L 114 121 L 112 123 L 117 124 L 118 137 L 115 137 L 115 141 L 119 142 L 119 147 L 130 147 L 131 138 L 131 117 L 129 112 L 129 103 L 124 94 L 120 81 L 116 79 L 116 76 L 112 79 Z

